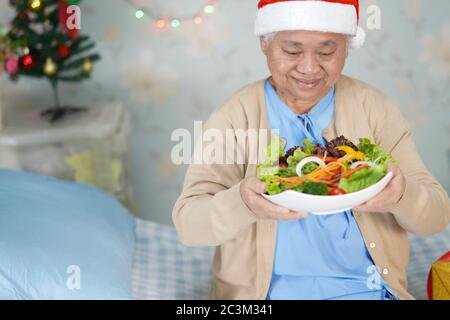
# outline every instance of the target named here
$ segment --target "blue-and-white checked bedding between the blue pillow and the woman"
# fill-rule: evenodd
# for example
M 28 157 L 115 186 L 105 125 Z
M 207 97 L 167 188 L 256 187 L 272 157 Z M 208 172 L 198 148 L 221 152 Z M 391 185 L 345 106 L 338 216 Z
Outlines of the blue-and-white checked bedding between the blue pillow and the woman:
M 133 297 L 207 299 L 214 248 L 187 248 L 175 229 L 137 219 Z

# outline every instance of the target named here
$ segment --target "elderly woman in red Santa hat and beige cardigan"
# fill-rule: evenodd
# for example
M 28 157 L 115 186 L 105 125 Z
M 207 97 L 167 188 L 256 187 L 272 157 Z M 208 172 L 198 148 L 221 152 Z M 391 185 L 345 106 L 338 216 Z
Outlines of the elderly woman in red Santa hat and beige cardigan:
M 271 77 L 236 93 L 206 127 L 279 129 L 287 147 L 305 137 L 368 137 L 398 161 L 394 178 L 360 207 L 323 217 L 265 200 L 253 164 L 191 165 L 173 220 L 184 244 L 217 247 L 211 298 L 413 299 L 407 233 L 444 230 L 450 201 L 400 111 L 341 75 L 349 47 L 364 38 L 358 7 L 357 0 L 261 0 L 255 29 Z

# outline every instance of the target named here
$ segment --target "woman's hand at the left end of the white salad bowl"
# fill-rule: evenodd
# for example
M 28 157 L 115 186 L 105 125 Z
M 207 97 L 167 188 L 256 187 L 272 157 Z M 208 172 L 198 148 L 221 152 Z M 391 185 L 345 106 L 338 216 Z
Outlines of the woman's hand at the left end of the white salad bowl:
M 265 199 L 261 194 L 266 192 L 266 183 L 261 182 L 258 178 L 249 177 L 243 180 L 240 192 L 246 206 L 259 219 L 299 220 L 308 215 L 307 212 L 294 212 Z

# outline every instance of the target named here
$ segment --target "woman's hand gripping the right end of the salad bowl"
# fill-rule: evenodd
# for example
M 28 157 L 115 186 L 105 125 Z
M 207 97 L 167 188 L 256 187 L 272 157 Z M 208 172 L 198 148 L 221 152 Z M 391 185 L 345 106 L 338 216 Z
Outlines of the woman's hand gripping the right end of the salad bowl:
M 389 166 L 389 171 L 394 174 L 391 182 L 375 198 L 354 208 L 353 210 L 362 212 L 387 213 L 391 212 L 405 193 L 406 179 L 400 168 L 395 165 Z

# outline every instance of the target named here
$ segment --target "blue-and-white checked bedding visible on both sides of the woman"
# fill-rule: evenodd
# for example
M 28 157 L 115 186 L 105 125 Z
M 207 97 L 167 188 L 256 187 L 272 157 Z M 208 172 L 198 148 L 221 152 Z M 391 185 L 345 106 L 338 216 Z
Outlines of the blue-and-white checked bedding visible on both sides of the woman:
M 135 299 L 207 299 L 211 283 L 214 248 L 184 247 L 175 229 L 137 220 L 133 265 Z M 426 280 L 431 264 L 450 250 L 450 228 L 430 237 L 411 237 L 409 292 L 426 297 Z

